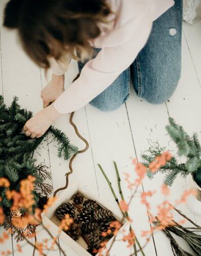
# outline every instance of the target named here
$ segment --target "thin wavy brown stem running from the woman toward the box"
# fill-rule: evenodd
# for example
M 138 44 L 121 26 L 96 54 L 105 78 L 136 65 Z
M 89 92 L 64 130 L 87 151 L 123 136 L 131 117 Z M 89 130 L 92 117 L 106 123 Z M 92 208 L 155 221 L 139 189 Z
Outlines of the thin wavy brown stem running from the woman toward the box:
M 73 80 L 75 81 L 77 78 L 79 77 L 79 74 L 76 76 L 76 78 Z M 73 173 L 73 167 L 72 167 L 72 163 L 73 163 L 73 160 L 75 159 L 75 157 L 78 155 L 78 154 L 81 154 L 81 153 L 84 153 L 85 151 L 88 150 L 88 147 L 89 147 L 89 144 L 88 144 L 88 141 L 81 136 L 81 134 L 78 132 L 78 129 L 77 129 L 77 126 L 76 124 L 73 122 L 73 116 L 74 116 L 75 112 L 72 112 L 71 113 L 71 116 L 70 116 L 70 124 L 73 126 L 74 130 L 75 130 L 75 133 L 77 134 L 77 136 L 85 143 L 85 147 L 83 150 L 80 150 L 78 151 L 76 154 L 74 154 L 69 162 L 69 169 L 70 169 L 70 172 L 66 173 L 65 174 L 65 186 L 63 187 L 60 187 L 58 188 L 57 190 L 55 190 L 54 192 L 54 197 L 56 196 L 56 194 L 58 193 L 58 191 L 61 191 L 63 189 L 66 189 L 69 185 L 69 175 Z

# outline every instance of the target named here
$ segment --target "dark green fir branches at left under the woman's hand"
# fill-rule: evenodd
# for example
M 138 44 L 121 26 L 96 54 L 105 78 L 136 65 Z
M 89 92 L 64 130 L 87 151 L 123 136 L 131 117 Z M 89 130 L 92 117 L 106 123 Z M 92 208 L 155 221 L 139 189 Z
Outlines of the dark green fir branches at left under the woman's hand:
M 36 165 L 36 160 L 32 159 L 33 153 L 41 143 L 43 138 L 52 133 L 54 139 L 58 142 L 58 154 L 64 159 L 69 159 L 76 154 L 78 148 L 73 146 L 69 138 L 54 127 L 50 129 L 39 139 L 27 137 L 22 129 L 32 113 L 21 109 L 17 97 L 14 97 L 10 106 L 4 104 L 3 97 L 0 95 L 0 178 L 6 177 L 10 181 L 10 189 L 19 191 L 20 181 L 26 179 L 29 175 L 36 178 L 35 181 L 35 205 L 38 201 L 38 195 L 50 195 L 52 186 L 44 181 L 51 179 L 47 166 Z M 6 190 L 0 187 L 1 206 L 4 212 L 9 215 L 12 202 L 7 199 Z M 33 209 L 34 209 L 33 207 Z

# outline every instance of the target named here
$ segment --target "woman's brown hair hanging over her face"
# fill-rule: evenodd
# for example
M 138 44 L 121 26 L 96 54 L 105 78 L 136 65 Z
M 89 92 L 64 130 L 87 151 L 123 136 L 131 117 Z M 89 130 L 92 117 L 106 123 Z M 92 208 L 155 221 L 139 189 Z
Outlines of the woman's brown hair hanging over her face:
M 50 57 L 91 56 L 89 41 L 100 35 L 99 25 L 109 13 L 106 0 L 11 0 L 4 26 L 17 29 L 28 56 L 48 69 Z

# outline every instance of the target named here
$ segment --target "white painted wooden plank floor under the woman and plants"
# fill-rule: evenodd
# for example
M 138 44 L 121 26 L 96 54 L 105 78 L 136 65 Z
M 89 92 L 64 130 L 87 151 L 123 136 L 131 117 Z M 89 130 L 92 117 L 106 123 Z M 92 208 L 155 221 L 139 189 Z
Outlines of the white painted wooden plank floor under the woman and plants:
M 4 2 L 4 1 L 3 1 Z M 1 4 L 3 4 L 3 2 Z M 2 8 L 0 8 L 2 11 Z M 74 162 L 74 174 L 70 176 L 70 185 L 74 182 L 82 183 L 88 190 L 93 191 L 100 198 L 110 202 L 111 209 L 116 202 L 102 177 L 97 163 L 102 164 L 110 181 L 118 193 L 116 175 L 113 160 L 118 163 L 123 190 L 126 198 L 129 191 L 126 189 L 123 173 L 132 173 L 133 166 L 130 157 L 140 159 L 141 152 L 148 148 L 148 140 L 159 140 L 162 145 L 168 145 L 169 137 L 166 136 L 165 125 L 168 116 L 182 124 L 189 133 L 201 133 L 201 23 L 194 26 L 184 24 L 183 28 L 183 65 L 182 77 L 178 88 L 169 102 L 162 105 L 150 105 L 137 98 L 133 89 L 126 102 L 120 109 L 111 113 L 102 113 L 91 105 L 86 105 L 75 113 L 75 123 L 81 134 L 90 142 L 90 149 L 77 157 Z M 3 94 L 5 103 L 9 104 L 14 95 L 19 97 L 19 103 L 34 113 L 42 108 L 40 91 L 46 85 L 43 71 L 37 68 L 20 49 L 16 35 L 1 26 L 1 62 L 0 62 L 0 94 Z M 65 75 L 65 86 L 77 74 L 77 66 L 72 62 L 69 71 Z M 72 143 L 82 148 L 84 145 L 76 137 L 71 125 L 69 115 L 62 116 L 54 124 L 65 132 Z M 200 136 L 201 138 L 201 136 Z M 68 171 L 68 162 L 57 158 L 56 148 L 53 143 L 43 142 L 41 150 L 35 157 L 38 162 L 45 161 L 52 172 L 52 184 L 54 190 L 64 185 L 64 174 Z M 152 181 L 145 179 L 144 190 L 157 189 L 159 193 L 150 199 L 152 211 L 157 212 L 157 205 L 163 200 L 160 194 L 160 186 L 163 177 L 158 175 Z M 171 188 L 170 201 L 174 202 L 186 188 L 186 181 L 178 178 Z M 180 207 L 193 220 L 195 218 L 185 205 Z M 133 200 L 130 209 L 138 239 L 141 244 L 145 239 L 141 237 L 141 230 L 148 230 L 149 224 L 146 216 L 146 208 L 140 204 L 139 198 Z M 3 232 L 3 230 L 1 230 Z M 37 239 L 47 237 L 43 231 L 38 232 Z M 25 243 L 23 255 L 32 254 L 32 247 Z M 68 254 L 68 247 L 62 244 Z M 185 245 L 184 245 L 185 246 Z M 10 250 L 13 255 L 18 255 L 14 238 L 1 245 L 1 251 Z M 169 241 L 162 233 L 156 233 L 150 243 L 144 249 L 146 255 L 173 255 Z M 36 253 L 37 254 L 37 253 Z M 59 250 L 50 252 L 51 255 L 60 255 Z M 140 253 L 139 253 L 140 254 Z M 68 255 L 73 255 L 69 253 Z M 119 253 L 118 255 L 125 255 Z

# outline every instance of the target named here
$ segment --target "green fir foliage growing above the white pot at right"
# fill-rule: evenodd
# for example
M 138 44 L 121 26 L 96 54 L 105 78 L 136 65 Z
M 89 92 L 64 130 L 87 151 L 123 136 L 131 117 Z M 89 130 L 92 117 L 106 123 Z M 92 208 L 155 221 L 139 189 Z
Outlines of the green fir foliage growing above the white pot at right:
M 196 182 L 200 181 L 201 185 L 201 146 L 197 138 L 197 134 L 189 136 L 182 126 L 177 125 L 172 118 L 169 118 L 170 124 L 166 126 L 168 134 L 178 147 L 178 156 L 185 156 L 185 163 L 178 163 L 175 157 L 172 157 L 165 166 L 161 167 L 157 172 L 165 174 L 164 183 L 171 186 L 178 175 L 186 177 L 189 174 L 197 174 Z M 165 147 L 161 147 L 158 143 L 151 145 L 148 154 L 143 154 L 142 159 L 144 164 L 148 167 L 154 161 L 155 157 L 161 155 Z M 148 177 L 153 178 L 153 173 L 148 169 Z

